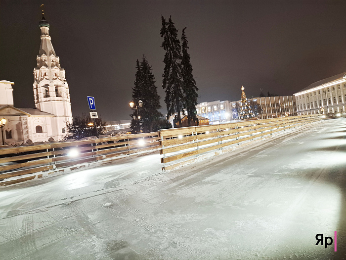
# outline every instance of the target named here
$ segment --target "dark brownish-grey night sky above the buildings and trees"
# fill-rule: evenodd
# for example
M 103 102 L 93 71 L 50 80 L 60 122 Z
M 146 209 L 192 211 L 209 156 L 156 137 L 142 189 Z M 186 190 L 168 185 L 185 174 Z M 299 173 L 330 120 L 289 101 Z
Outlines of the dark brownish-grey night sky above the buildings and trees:
M 35 107 L 33 69 L 40 48 L 40 4 L 74 116 L 94 96 L 104 120 L 130 119 L 135 61 L 145 54 L 163 113 L 161 14 L 186 36 L 198 102 L 240 100 L 259 89 L 292 95 L 346 71 L 346 1 L 317 0 L 1 0 L 0 80 L 15 82 L 14 105 Z

